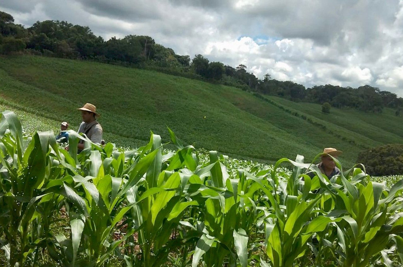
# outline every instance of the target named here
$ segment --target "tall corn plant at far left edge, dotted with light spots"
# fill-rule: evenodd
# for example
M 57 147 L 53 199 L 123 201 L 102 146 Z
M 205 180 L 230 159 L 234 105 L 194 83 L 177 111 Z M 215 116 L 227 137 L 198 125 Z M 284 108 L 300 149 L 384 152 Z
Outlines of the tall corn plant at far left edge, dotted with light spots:
M 22 266 L 27 259 L 35 266 L 38 252 L 50 238 L 50 218 L 63 199 L 60 189 L 54 190 L 60 172 L 58 162 L 50 156 L 58 153 L 58 147 L 52 131 L 24 138 L 15 114 L 2 114 L 0 233 L 5 239 L 0 241 L 1 248 L 10 266 Z

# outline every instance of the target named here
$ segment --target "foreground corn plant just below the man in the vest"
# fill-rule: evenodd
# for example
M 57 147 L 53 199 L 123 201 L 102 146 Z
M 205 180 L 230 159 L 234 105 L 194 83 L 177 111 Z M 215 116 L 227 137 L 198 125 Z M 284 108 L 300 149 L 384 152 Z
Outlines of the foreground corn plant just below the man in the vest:
M 53 255 L 62 259 L 66 266 L 102 266 L 114 254 L 125 239 L 113 240 L 112 234 L 131 209 L 130 205 L 123 203 L 125 193 L 142 178 L 156 154 L 150 153 L 141 159 L 139 156 L 134 162 L 128 157 L 126 162 L 125 153 L 112 153 L 109 145 L 105 148 L 95 144 L 91 146 L 77 157 L 62 152 L 62 164 L 68 166 L 68 172 L 74 175 L 64 179 L 70 181 L 84 203 L 84 207 L 67 209 L 71 238 L 55 236 Z M 113 158 L 110 158 L 112 154 Z M 131 166 L 125 166 L 128 162 Z M 130 172 L 125 173 L 124 169 Z M 79 252 L 81 259 L 76 261 Z

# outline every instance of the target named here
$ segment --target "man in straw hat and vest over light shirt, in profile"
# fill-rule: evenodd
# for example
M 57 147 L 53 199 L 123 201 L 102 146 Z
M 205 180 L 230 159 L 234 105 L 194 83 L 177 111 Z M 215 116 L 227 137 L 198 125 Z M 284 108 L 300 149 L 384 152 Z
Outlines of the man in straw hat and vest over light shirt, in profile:
M 100 144 L 102 140 L 102 127 L 96 120 L 100 115 L 96 112 L 96 107 L 91 103 L 85 105 L 77 110 L 81 111 L 81 122 L 78 128 L 78 133 L 85 134 L 93 143 Z M 80 140 L 78 144 L 79 152 L 84 149 L 84 141 Z

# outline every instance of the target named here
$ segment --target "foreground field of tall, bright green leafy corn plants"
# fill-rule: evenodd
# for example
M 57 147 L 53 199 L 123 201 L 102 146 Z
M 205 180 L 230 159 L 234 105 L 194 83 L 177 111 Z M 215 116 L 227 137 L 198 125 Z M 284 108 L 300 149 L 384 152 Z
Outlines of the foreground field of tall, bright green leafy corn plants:
M 401 266 L 403 180 L 360 166 L 328 179 L 313 164 L 274 168 L 200 159 L 168 129 L 136 150 L 69 132 L 25 135 L 0 122 L 0 247 L 8 266 Z M 77 154 L 79 139 L 85 149 Z M 292 164 L 288 173 L 282 164 Z M 314 172 L 310 178 L 307 172 Z M 50 263 L 48 263 L 50 264 Z M 52 264 L 48 265 L 52 266 Z

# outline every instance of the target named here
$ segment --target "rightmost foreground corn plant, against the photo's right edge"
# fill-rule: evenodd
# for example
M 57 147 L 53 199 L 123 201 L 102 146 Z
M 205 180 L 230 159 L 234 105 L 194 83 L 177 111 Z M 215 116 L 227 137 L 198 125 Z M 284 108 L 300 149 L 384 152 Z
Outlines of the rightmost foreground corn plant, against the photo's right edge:
M 363 174 L 361 169 L 356 168 L 351 181 L 348 181 L 342 173 L 343 187 L 335 187 L 337 195 L 334 201 L 343 204 L 342 209 L 332 211 L 341 219 L 333 226 L 342 251 L 338 257 L 342 266 L 370 265 L 381 256 L 391 237 L 403 230 L 403 199 L 395 197 L 403 189 L 403 180 L 395 183 L 390 190 L 382 183 L 353 182 Z M 400 242 L 396 242 L 396 246 L 399 251 L 403 249 Z

